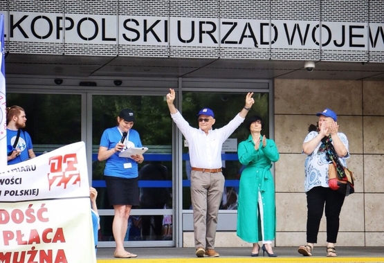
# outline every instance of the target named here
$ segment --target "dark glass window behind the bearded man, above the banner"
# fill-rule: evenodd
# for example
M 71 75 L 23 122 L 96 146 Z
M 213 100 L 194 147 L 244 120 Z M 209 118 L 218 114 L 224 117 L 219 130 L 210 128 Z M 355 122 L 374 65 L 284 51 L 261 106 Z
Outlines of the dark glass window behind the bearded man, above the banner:
M 81 95 L 7 94 L 7 107 L 26 111 L 26 128 L 35 154 L 77 143 L 81 138 Z

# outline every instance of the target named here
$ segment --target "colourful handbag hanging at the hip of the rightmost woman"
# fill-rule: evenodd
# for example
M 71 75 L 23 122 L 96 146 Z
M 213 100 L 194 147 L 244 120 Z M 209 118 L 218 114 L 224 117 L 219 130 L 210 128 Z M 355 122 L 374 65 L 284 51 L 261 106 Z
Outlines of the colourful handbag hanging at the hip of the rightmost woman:
M 354 174 L 347 167 L 343 167 L 341 172 L 336 169 L 335 161 L 329 163 L 328 185 L 332 190 L 337 190 L 347 197 L 355 192 Z M 342 173 L 345 176 L 342 176 Z

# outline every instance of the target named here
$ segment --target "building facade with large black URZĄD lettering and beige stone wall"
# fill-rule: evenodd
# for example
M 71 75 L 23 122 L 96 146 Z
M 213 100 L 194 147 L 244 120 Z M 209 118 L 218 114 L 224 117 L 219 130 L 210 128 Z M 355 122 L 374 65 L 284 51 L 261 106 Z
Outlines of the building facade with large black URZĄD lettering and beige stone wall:
M 89 179 L 102 199 L 99 246 L 113 246 L 113 211 L 104 200 L 95 154 L 100 132 L 113 125 L 116 105 L 131 105 L 147 122 L 138 120 L 135 127 L 151 146 L 146 160 L 167 166 L 163 188 L 173 200 L 165 209 L 134 210 L 132 217 L 163 216 L 167 237 L 132 234 L 138 239 L 127 236 L 127 246 L 193 246 L 188 147 L 163 101 L 169 88 L 176 89 L 176 105 L 191 123 L 203 103 L 214 105 L 225 123 L 241 109 L 246 92 L 257 93 L 253 113 L 266 114 L 267 136 L 281 154 L 274 165 L 275 246 L 305 242 L 301 145 L 316 112 L 329 107 L 349 138 L 348 163 L 356 176 L 356 193 L 342 208 L 338 246 L 384 246 L 384 181 L 378 172 L 384 154 L 383 12 L 384 1 L 368 0 L 1 1 L 7 100 L 24 102 L 33 116 L 28 125 L 34 126 L 37 152 L 86 142 Z M 35 126 L 47 122 L 38 118 L 47 108 L 71 129 L 60 133 L 62 123 L 51 120 L 42 126 L 52 136 L 39 138 L 44 132 Z M 239 131 L 226 145 L 228 190 L 238 185 L 236 147 L 243 135 Z M 220 210 L 216 246 L 249 245 L 236 237 L 236 217 L 236 210 Z M 129 222 L 132 229 L 136 223 Z M 319 245 L 324 235 L 323 220 Z

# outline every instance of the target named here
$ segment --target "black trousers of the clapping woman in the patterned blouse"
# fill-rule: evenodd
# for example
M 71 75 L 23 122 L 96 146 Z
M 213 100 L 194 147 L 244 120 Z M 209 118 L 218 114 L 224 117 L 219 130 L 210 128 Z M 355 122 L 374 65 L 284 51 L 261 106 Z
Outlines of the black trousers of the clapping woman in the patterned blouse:
M 336 243 L 340 226 L 340 211 L 345 195 L 331 188 L 318 186 L 307 192 L 307 242 L 317 243 L 320 221 L 325 205 L 327 242 Z

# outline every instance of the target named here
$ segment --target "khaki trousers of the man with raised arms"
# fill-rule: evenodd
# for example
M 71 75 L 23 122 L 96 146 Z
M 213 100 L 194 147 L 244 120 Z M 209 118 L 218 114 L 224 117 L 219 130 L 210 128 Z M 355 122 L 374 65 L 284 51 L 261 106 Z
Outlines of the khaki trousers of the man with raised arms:
M 217 214 L 223 197 L 224 176 L 221 172 L 191 172 L 191 199 L 194 221 L 194 245 L 214 249 Z

